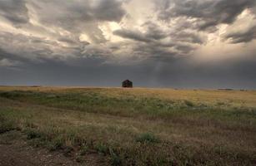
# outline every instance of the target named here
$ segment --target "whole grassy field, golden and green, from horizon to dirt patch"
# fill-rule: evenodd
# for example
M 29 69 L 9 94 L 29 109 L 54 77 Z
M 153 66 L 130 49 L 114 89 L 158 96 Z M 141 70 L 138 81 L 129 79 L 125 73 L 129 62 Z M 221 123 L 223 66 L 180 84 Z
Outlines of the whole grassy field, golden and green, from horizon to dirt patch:
M 11 131 L 79 164 L 255 165 L 256 91 L 0 86 Z

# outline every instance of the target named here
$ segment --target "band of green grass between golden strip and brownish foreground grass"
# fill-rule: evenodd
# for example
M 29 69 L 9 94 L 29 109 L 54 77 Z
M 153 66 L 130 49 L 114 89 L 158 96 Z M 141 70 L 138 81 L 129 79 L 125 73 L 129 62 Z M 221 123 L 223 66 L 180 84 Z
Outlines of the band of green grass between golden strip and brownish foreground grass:
M 121 98 L 109 97 L 100 93 L 92 92 L 66 92 L 66 93 L 45 93 L 33 91 L 11 91 L 0 92 L 0 97 L 21 102 L 46 105 L 54 108 L 80 110 L 84 112 L 102 113 L 121 116 L 147 116 L 149 118 L 168 118 L 168 116 L 208 114 L 220 118 L 233 119 L 235 115 L 241 115 L 247 120 L 250 114 L 256 110 L 244 111 L 243 107 L 220 107 L 219 105 L 193 104 L 189 100 L 163 100 L 153 97 L 123 96 Z M 228 110 L 228 111 L 226 111 Z M 248 114 L 248 116 L 246 116 Z M 243 117 L 242 117 L 243 118 Z

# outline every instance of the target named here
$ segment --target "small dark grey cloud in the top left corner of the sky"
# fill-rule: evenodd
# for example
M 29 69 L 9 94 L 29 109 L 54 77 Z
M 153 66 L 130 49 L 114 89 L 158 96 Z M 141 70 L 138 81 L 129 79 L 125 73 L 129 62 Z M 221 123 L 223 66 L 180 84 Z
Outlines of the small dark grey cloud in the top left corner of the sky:
M 5 17 L 14 26 L 28 23 L 28 8 L 24 0 L 1 0 L 0 16 Z

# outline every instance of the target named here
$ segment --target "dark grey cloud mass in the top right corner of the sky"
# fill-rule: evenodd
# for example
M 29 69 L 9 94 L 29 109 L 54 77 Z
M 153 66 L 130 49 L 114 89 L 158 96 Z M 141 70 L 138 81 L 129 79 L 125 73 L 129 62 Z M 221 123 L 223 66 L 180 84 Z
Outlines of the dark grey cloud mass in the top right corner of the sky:
M 163 20 L 196 18 L 193 26 L 206 30 L 220 23 L 233 23 L 241 12 L 254 5 L 255 0 L 163 0 L 162 7 L 158 7 L 158 17 Z

